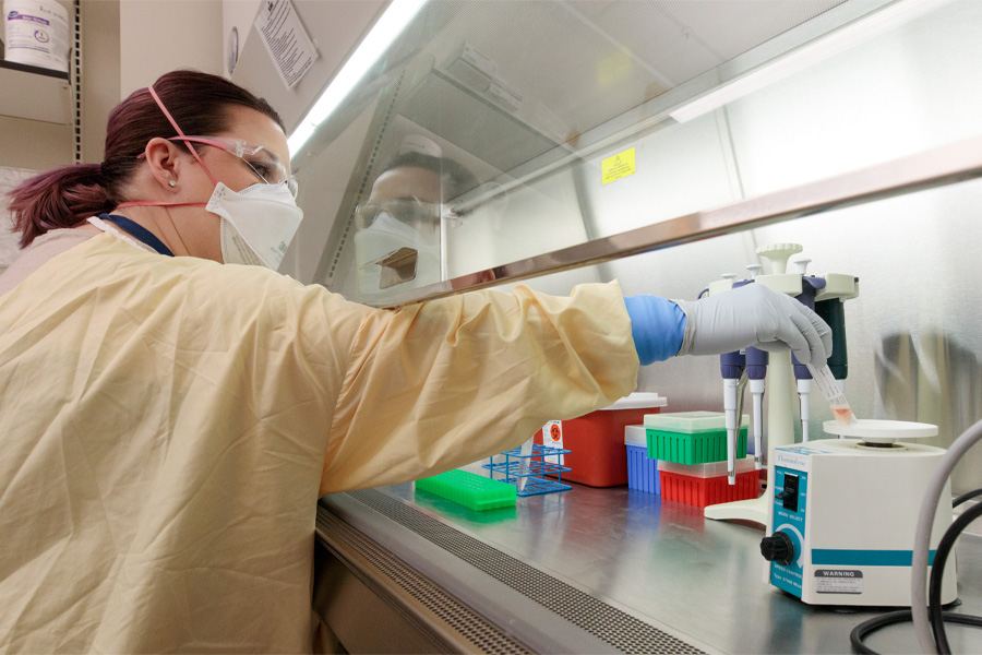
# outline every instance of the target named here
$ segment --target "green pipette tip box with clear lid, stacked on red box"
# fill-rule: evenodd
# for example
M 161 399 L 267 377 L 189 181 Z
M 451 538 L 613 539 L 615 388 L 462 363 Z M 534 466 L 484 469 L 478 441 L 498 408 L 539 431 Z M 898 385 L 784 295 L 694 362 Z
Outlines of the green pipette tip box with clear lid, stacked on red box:
M 746 456 L 746 424 L 736 436 L 736 457 Z M 679 412 L 645 416 L 648 457 L 676 464 L 706 464 L 727 460 L 726 418 L 719 412 Z

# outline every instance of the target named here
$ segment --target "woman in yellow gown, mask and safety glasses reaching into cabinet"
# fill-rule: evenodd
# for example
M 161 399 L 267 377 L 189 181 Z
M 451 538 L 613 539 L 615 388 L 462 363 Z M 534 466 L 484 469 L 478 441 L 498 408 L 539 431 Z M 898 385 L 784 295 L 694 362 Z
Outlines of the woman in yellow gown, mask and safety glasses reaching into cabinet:
M 301 215 L 288 162 L 265 102 L 180 71 L 112 111 L 101 165 L 12 194 L 0 650 L 307 650 L 320 495 L 515 446 L 631 392 L 639 360 L 829 347 L 763 288 L 347 302 L 270 270 Z

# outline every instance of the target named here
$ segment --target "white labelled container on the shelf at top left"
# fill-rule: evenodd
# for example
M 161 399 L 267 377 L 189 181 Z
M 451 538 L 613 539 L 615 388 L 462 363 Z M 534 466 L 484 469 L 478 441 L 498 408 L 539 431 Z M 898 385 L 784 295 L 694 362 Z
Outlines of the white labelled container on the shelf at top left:
M 68 11 L 55 0 L 3 2 L 7 61 L 68 72 Z

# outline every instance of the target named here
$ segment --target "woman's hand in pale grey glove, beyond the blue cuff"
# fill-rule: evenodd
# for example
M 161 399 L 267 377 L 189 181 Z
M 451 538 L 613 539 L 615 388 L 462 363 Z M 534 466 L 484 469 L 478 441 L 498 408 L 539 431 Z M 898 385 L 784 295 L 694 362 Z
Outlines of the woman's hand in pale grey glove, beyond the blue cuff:
M 802 364 L 825 365 L 831 330 L 794 298 L 749 284 L 702 300 L 676 300 L 687 321 L 679 355 L 720 355 L 756 346 L 788 348 Z

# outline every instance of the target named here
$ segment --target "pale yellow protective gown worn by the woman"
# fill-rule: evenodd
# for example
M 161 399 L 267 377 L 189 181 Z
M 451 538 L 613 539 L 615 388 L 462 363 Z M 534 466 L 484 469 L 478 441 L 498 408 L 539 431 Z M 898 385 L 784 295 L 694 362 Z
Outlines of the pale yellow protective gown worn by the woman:
M 400 311 L 108 234 L 0 296 L 0 651 L 310 648 L 320 495 L 630 393 L 619 287 Z

